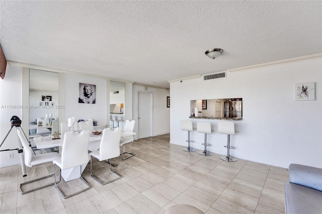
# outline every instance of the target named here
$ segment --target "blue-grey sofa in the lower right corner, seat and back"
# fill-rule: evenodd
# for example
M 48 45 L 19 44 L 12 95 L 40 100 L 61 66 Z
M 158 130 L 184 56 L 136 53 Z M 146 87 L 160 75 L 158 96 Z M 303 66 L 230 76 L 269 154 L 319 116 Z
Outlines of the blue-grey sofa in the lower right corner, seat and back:
M 285 212 L 322 213 L 322 169 L 290 164 L 285 183 Z

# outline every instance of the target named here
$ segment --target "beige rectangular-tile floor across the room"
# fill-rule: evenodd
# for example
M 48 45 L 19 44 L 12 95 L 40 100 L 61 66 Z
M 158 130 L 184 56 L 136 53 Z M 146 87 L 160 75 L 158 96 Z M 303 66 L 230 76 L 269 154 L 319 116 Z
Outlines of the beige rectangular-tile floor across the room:
M 24 195 L 19 191 L 21 182 L 52 172 L 51 164 L 26 167 L 26 177 L 20 165 L 1 168 L 0 213 L 164 213 L 175 204 L 204 213 L 284 213 L 287 169 L 242 159 L 227 163 L 218 154 L 184 152 L 169 141 L 170 135 L 162 135 L 129 144 L 134 157 L 113 159 L 119 164 L 113 169 L 123 177 L 104 186 L 87 167 L 83 175 L 93 187 L 67 199 L 54 186 Z M 71 182 L 70 188 L 77 186 L 77 180 Z

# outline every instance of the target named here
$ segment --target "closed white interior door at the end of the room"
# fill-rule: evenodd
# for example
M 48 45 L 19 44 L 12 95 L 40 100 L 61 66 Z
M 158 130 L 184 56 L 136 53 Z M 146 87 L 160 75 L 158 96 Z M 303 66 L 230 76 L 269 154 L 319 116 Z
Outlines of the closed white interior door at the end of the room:
M 138 139 L 151 137 L 152 93 L 138 92 Z

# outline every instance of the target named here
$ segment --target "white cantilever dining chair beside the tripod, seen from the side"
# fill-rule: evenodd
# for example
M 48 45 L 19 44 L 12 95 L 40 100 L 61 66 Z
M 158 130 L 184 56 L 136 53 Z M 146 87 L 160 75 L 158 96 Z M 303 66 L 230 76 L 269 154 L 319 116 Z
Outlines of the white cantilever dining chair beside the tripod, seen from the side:
M 56 153 L 56 152 L 49 152 L 49 153 L 40 154 L 40 155 L 33 155 L 32 148 L 30 147 L 30 145 L 29 145 L 29 143 L 27 141 L 27 138 L 25 137 L 24 133 L 20 129 L 17 129 L 17 134 L 18 134 L 18 137 L 19 137 L 19 139 L 20 139 L 20 141 L 22 143 L 22 146 L 23 146 L 24 161 L 25 161 L 26 166 L 28 166 L 28 167 L 38 166 L 38 165 L 41 165 L 41 164 L 50 163 L 55 159 L 60 159 L 60 155 L 58 153 Z M 42 189 L 44 187 L 53 185 L 54 182 L 52 182 L 51 179 L 50 179 L 50 181 L 51 181 L 50 183 L 47 183 L 47 184 L 44 184 L 44 185 L 39 185 L 39 180 L 49 178 L 49 177 L 51 177 L 53 175 L 54 175 L 54 173 L 52 173 L 50 175 L 46 175 L 44 177 L 39 177 L 39 178 L 36 178 L 36 179 L 29 180 L 29 181 L 26 181 L 24 183 L 21 183 L 20 184 L 21 194 L 25 194 L 25 193 L 28 193 L 28 192 L 32 192 L 32 191 L 35 191 L 35 190 Z M 33 183 L 33 182 L 37 182 L 36 183 L 37 187 L 31 188 L 31 189 L 28 189 L 28 190 L 23 190 L 23 186 L 26 186 L 27 184 Z

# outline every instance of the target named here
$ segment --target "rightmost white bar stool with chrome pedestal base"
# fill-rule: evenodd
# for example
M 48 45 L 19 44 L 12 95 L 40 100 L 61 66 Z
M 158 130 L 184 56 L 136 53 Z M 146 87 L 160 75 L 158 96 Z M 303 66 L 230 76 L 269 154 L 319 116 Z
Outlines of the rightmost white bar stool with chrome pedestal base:
M 227 155 L 223 155 L 220 157 L 221 160 L 233 162 L 236 161 L 237 158 L 230 157 L 229 155 L 229 149 L 235 149 L 235 147 L 230 146 L 230 135 L 235 135 L 237 132 L 235 132 L 235 125 L 232 122 L 219 122 L 218 123 L 218 133 L 220 134 L 226 134 L 227 135 L 227 146 L 224 146 L 227 148 Z

